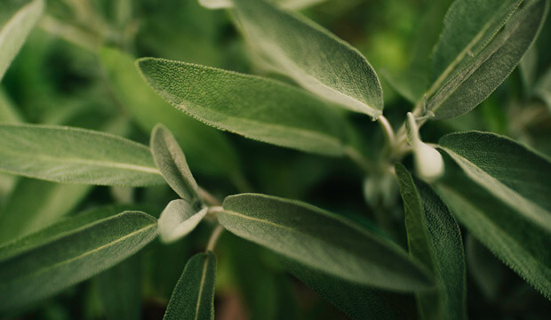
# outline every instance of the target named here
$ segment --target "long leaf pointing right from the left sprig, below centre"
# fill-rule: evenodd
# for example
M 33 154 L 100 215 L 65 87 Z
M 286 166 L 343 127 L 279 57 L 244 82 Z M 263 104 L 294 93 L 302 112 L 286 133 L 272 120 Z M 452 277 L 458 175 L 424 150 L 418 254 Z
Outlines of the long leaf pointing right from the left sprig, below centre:
M 228 196 L 220 224 L 307 267 L 356 284 L 419 291 L 434 284 L 397 245 L 312 205 L 274 196 Z

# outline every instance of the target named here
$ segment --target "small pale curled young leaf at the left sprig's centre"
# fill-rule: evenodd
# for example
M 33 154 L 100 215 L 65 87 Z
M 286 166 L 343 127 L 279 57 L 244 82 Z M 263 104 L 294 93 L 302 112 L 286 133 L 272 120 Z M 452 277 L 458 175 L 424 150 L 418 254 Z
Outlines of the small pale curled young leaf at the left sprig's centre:
M 203 220 L 207 207 L 196 207 L 185 200 L 172 200 L 159 217 L 159 236 L 164 243 L 172 243 L 188 235 Z

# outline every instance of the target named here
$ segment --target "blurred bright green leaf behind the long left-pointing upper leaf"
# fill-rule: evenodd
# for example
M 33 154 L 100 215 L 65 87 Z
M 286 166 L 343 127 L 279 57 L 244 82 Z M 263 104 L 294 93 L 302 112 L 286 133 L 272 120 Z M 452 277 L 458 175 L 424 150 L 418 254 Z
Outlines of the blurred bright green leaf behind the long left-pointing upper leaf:
M 140 76 L 131 56 L 116 49 L 103 48 L 100 61 L 107 71 L 116 99 L 142 130 L 149 133 L 156 124 L 164 124 L 180 141 L 194 172 L 236 173 L 239 161 L 226 137 L 159 97 Z

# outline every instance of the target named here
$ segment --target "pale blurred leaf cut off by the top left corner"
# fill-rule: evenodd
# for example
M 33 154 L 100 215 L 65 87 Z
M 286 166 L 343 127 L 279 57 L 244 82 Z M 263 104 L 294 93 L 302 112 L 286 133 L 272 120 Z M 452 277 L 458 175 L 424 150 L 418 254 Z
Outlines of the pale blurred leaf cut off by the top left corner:
M 35 0 L 5 20 L 6 13 L 12 12 L 13 7 L 19 4 L 13 1 L 0 4 L 0 80 L 44 12 L 44 0 Z

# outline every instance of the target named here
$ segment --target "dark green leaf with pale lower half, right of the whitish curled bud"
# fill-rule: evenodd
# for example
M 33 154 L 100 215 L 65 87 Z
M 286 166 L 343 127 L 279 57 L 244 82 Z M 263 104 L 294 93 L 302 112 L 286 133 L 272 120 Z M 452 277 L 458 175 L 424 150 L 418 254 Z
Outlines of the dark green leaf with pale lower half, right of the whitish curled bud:
M 551 162 L 530 148 L 489 132 L 460 132 L 439 140 L 477 184 L 523 218 L 551 231 Z

